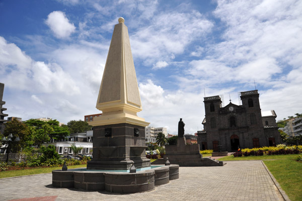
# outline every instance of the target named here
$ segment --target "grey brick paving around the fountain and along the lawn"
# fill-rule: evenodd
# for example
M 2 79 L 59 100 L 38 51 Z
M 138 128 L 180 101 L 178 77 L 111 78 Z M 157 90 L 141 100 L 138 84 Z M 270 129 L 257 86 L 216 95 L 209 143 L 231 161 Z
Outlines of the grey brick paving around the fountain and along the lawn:
M 180 167 L 179 175 L 155 190 L 134 194 L 54 188 L 51 174 L 6 178 L 0 179 L 0 200 L 284 200 L 261 161 Z

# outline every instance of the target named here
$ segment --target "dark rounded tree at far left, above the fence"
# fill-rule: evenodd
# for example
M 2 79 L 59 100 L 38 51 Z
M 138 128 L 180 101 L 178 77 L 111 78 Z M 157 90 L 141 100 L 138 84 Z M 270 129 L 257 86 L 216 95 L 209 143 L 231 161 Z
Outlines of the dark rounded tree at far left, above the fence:
M 3 135 L 7 137 L 10 133 L 13 134 L 14 137 L 12 140 L 15 140 L 17 136 L 20 139 L 18 143 L 12 143 L 11 148 L 14 152 L 21 151 L 21 149 L 34 144 L 31 130 L 26 124 L 18 120 L 14 119 L 6 123 Z

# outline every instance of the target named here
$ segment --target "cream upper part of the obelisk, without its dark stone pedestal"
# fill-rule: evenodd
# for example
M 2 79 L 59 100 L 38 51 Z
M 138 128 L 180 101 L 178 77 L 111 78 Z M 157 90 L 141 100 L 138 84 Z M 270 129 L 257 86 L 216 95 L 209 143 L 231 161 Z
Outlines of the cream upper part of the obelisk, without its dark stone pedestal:
M 127 123 L 148 126 L 136 113 L 142 110 L 135 68 L 131 53 L 128 28 L 124 19 L 115 25 L 96 108 L 103 115 L 96 117 L 92 126 Z

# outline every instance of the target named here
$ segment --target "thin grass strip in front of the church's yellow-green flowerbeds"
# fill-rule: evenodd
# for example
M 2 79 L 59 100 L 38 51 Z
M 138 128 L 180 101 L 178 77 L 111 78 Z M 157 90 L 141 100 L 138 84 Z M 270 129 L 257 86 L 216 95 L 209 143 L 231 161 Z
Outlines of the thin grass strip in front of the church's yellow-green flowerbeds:
M 298 155 L 301 154 L 288 154 L 288 155 L 263 155 L 263 156 L 242 156 L 242 157 L 234 157 L 225 156 L 219 158 L 220 161 L 230 161 L 230 160 L 273 160 L 273 159 L 295 159 Z

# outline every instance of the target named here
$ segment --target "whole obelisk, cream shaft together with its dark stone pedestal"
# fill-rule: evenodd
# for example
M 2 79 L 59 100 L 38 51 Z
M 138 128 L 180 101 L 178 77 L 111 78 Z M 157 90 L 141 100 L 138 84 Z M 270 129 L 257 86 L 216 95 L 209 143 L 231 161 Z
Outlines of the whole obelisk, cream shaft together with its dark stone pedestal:
M 150 166 L 145 157 L 145 127 L 128 28 L 115 25 L 96 108 L 103 115 L 93 122 L 93 160 L 87 169 L 130 169 Z

